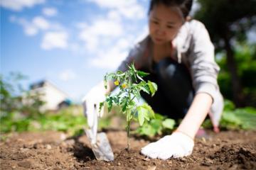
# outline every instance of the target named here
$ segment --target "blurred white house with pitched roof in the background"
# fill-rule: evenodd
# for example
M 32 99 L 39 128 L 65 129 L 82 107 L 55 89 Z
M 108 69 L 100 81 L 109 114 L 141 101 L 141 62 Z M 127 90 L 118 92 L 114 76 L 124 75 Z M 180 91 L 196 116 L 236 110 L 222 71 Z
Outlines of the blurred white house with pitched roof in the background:
M 60 108 L 70 106 L 68 94 L 61 91 L 57 86 L 47 80 L 39 81 L 30 86 L 31 94 L 40 94 L 39 98 L 44 101 L 42 111 L 57 111 Z

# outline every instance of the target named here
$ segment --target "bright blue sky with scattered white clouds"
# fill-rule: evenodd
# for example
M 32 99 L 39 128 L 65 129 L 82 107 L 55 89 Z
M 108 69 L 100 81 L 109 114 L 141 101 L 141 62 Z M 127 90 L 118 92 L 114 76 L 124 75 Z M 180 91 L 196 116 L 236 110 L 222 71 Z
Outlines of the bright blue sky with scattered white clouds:
M 1 0 L 1 74 L 80 101 L 147 33 L 148 0 Z

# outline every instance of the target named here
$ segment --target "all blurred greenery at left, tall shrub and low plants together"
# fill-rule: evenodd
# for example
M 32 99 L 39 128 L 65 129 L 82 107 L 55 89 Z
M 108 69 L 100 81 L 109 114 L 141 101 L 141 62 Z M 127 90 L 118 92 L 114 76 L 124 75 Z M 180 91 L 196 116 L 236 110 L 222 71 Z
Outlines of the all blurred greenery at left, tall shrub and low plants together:
M 21 81 L 25 77 L 12 73 L 9 77 L 0 76 L 0 132 L 24 132 L 57 130 L 68 135 L 80 135 L 87 123 L 82 108 L 70 106 L 57 113 L 41 111 L 43 101 L 38 93 L 25 91 Z M 101 119 L 100 128 L 105 128 L 110 120 Z

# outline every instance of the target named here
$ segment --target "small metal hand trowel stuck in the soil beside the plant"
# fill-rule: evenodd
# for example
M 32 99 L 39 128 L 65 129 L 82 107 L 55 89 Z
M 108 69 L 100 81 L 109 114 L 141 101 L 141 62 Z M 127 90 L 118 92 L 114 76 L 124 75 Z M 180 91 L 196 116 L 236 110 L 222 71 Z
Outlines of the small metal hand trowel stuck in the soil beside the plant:
M 85 129 L 86 136 L 90 140 L 92 152 L 95 154 L 97 160 L 104 160 L 107 162 L 113 161 L 114 154 L 112 152 L 110 142 L 107 139 L 107 135 L 105 132 L 97 133 L 98 118 L 96 106 L 94 106 L 93 112 L 95 123 L 92 128 Z

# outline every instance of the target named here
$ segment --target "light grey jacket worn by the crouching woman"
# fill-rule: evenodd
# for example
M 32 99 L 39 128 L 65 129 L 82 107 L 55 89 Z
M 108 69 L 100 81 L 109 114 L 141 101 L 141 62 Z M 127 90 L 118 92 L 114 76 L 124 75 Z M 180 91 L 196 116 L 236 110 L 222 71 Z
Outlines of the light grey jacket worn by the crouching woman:
M 130 50 L 126 60 L 118 67 L 125 71 L 127 64 L 134 62 L 137 69 L 151 69 L 153 57 L 149 47 L 149 35 Z M 193 88 L 198 93 L 207 93 L 213 98 L 210 119 L 218 127 L 223 112 L 223 96 L 220 94 L 217 77 L 220 67 L 214 59 L 214 46 L 203 23 L 192 20 L 183 24 L 173 40 L 176 47 L 176 60 L 186 64 L 193 81 Z

